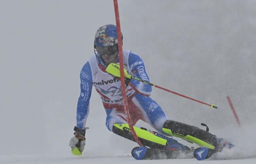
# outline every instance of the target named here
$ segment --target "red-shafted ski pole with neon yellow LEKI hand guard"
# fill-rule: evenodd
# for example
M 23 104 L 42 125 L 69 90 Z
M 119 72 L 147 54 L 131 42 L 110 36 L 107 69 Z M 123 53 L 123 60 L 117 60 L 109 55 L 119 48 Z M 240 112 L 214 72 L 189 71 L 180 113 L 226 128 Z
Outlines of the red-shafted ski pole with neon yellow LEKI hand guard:
M 108 65 L 108 67 L 106 68 L 106 71 L 107 71 L 109 74 L 112 74 L 112 75 L 114 75 L 114 76 L 116 76 L 116 77 L 121 77 L 121 76 L 120 76 L 120 65 L 118 65 L 118 64 L 116 64 L 116 63 L 110 63 L 110 64 Z M 211 109 L 213 109 L 213 108 L 218 109 L 218 107 L 215 106 L 214 104 L 207 104 L 207 103 L 205 103 L 205 102 L 203 102 L 203 101 L 199 101 L 199 100 L 197 100 L 197 99 L 188 97 L 188 96 L 186 96 L 186 95 L 183 95 L 183 94 L 180 94 L 180 93 L 171 91 L 171 90 L 169 90 L 169 89 L 165 89 L 165 88 L 163 88 L 163 87 L 161 87 L 161 86 L 155 85 L 155 84 L 153 84 L 153 83 L 144 81 L 144 80 L 139 79 L 139 78 L 137 78 L 137 77 L 133 77 L 132 75 L 128 74 L 125 69 L 124 69 L 124 76 L 125 76 L 126 78 L 135 79 L 135 80 L 137 80 L 137 81 L 139 81 L 139 82 L 143 82 L 144 84 L 151 85 L 151 86 L 153 86 L 153 87 L 157 87 L 157 88 L 159 88 L 159 89 L 162 89 L 162 90 L 165 90 L 165 91 L 167 91 L 167 92 L 170 92 L 170 93 L 179 95 L 179 96 L 181 96 L 181 97 L 185 97 L 185 98 L 187 98 L 187 99 L 191 99 L 191 100 L 196 101 L 196 102 L 199 102 L 199 103 L 201 103 L 201 104 L 208 105 L 208 106 L 211 107 Z

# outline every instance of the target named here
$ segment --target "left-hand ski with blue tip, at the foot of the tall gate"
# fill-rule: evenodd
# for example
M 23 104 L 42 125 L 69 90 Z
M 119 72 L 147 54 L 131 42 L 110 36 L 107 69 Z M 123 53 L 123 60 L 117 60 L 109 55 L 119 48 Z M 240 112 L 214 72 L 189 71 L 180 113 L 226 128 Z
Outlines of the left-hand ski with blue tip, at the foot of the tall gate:
M 132 149 L 132 156 L 136 160 L 187 159 L 193 158 L 193 152 L 193 150 L 165 151 L 146 147 L 135 147 Z

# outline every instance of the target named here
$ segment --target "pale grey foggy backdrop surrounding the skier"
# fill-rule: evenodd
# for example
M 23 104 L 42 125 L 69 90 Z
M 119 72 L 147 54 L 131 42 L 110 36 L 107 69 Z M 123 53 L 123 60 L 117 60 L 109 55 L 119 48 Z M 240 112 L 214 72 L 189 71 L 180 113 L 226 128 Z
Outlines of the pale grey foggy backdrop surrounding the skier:
M 154 88 L 151 97 L 167 116 L 200 128 L 203 122 L 237 145 L 255 145 L 256 1 L 118 5 L 123 48 L 143 58 L 150 81 L 219 107 Z M 112 0 L 0 0 L 0 156 L 72 156 L 80 70 L 94 55 L 103 24 L 116 24 Z M 129 155 L 137 144 L 109 132 L 105 117 L 93 88 L 83 156 Z

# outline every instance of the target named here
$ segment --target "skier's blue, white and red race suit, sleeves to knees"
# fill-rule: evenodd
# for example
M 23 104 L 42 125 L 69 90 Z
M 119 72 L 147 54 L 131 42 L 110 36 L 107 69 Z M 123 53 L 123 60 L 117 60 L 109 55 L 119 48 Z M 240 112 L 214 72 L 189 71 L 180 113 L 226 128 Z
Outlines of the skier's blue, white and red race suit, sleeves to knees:
M 85 127 L 89 114 L 91 90 L 94 85 L 107 114 L 106 126 L 112 131 L 114 123 L 127 123 L 123 107 L 121 82 L 106 72 L 106 65 L 103 63 L 101 56 L 98 54 L 97 56 L 98 60 L 95 55 L 91 57 L 80 73 L 81 93 L 77 106 L 77 127 L 79 129 Z M 144 62 L 139 55 L 129 50 L 123 50 L 123 60 L 128 74 L 149 82 Z M 119 59 L 116 63 L 119 64 Z M 138 120 L 143 120 L 158 132 L 162 132 L 164 122 L 169 119 L 157 102 L 149 97 L 152 91 L 151 86 L 132 79 L 125 90 L 133 124 Z

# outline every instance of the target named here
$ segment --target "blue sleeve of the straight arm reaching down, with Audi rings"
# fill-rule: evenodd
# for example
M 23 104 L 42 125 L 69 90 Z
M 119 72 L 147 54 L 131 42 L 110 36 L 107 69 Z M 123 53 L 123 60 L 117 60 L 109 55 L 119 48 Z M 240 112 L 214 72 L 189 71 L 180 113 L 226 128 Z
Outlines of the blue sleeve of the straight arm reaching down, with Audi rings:
M 89 114 L 89 103 L 91 98 L 91 89 L 93 87 L 93 79 L 91 75 L 91 66 L 87 62 L 80 72 L 80 88 L 81 93 L 78 99 L 76 110 L 76 126 L 79 129 L 85 127 L 85 123 Z

